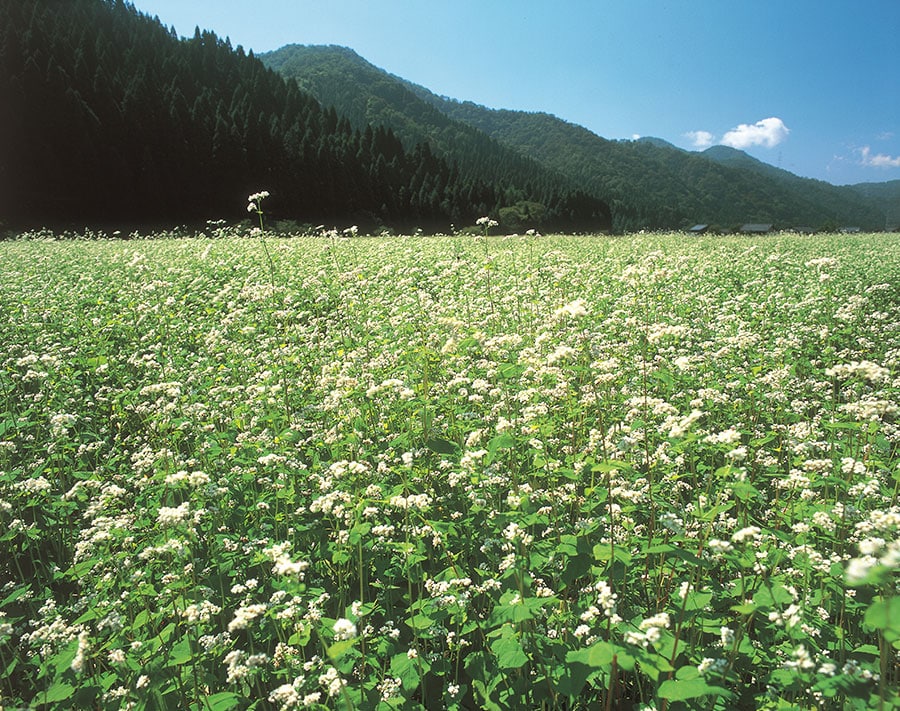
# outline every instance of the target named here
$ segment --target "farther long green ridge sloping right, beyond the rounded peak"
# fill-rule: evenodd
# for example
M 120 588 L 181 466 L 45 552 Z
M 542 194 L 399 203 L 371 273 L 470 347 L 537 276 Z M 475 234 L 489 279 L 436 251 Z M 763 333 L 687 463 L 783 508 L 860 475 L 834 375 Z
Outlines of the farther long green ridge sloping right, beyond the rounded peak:
M 851 189 L 800 178 L 743 151 L 716 146 L 692 153 L 658 139 L 607 141 L 549 114 L 491 110 L 422 88 L 417 93 L 447 115 L 583 180 L 585 188 L 607 196 L 621 228 L 885 226 L 884 212 Z

